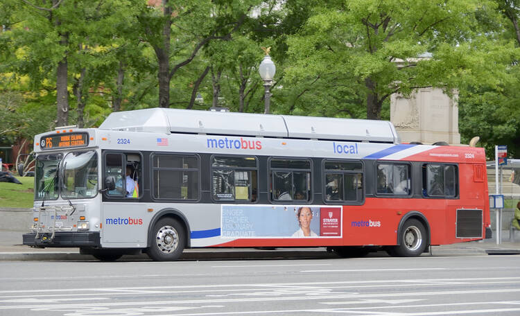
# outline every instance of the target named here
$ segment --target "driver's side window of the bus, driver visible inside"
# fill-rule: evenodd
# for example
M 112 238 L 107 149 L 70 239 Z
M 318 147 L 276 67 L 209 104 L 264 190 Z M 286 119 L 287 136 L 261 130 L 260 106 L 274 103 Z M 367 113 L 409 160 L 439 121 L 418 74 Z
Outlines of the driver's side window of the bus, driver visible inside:
M 119 198 L 139 198 L 141 157 L 137 154 L 108 154 L 105 158 L 105 176 L 112 176 L 116 188 L 107 195 Z

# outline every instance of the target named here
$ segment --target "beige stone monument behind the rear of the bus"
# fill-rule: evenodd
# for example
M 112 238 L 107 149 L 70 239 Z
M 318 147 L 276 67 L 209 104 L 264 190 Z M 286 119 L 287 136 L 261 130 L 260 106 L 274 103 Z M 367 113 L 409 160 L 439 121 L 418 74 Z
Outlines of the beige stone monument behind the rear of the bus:
M 458 91 L 453 91 L 451 98 L 437 88 L 417 89 L 409 98 L 392 94 L 390 121 L 402 142 L 419 141 L 430 145 L 444 141 L 459 145 Z

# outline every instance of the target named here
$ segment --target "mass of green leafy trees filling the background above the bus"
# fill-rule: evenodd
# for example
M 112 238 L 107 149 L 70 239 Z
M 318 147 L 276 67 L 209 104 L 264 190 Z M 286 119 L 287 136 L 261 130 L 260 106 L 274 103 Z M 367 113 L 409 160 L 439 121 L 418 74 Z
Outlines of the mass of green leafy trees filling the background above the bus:
M 266 46 L 275 114 L 389 119 L 393 93 L 458 89 L 462 140 L 518 155 L 519 4 L 3 0 L 0 141 L 126 109 L 261 113 Z

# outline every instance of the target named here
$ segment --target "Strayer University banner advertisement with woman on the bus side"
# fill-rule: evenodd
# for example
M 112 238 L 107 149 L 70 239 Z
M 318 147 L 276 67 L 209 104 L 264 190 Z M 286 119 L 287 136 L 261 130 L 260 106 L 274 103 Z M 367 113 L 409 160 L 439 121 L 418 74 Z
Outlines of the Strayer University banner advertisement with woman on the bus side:
M 341 207 L 222 205 L 222 238 L 340 238 Z

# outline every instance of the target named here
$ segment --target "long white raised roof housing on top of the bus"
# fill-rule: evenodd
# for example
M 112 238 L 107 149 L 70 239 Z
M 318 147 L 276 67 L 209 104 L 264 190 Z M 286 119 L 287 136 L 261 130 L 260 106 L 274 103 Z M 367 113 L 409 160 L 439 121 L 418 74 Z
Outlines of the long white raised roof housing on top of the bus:
M 398 143 L 394 125 L 388 121 L 337 119 L 191 109 L 137 109 L 114 112 L 101 130 L 133 132 L 217 134 L 248 137 L 282 137 Z

